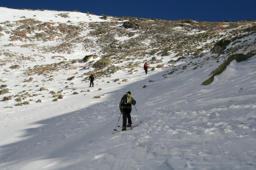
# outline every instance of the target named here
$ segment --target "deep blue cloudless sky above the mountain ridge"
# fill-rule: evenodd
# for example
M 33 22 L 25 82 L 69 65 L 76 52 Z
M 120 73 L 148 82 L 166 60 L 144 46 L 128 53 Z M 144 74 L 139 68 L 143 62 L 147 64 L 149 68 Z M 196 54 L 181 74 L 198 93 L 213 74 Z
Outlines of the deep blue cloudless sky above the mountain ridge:
M 96 15 L 163 20 L 256 20 L 256 0 L 3 0 L 0 6 L 14 9 L 78 10 Z

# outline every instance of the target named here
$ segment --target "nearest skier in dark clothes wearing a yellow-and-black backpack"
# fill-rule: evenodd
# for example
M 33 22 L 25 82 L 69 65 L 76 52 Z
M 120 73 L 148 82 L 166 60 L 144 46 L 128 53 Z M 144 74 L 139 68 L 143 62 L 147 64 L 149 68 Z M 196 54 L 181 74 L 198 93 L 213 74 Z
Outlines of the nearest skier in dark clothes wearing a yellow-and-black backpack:
M 130 96 L 131 92 L 127 91 L 127 93 L 122 97 L 120 103 L 119 103 L 119 109 L 120 112 L 123 115 L 123 130 L 126 130 L 126 118 L 128 119 L 127 127 L 132 126 L 132 119 L 131 119 L 131 111 L 132 111 L 132 105 L 136 104 L 136 101 Z

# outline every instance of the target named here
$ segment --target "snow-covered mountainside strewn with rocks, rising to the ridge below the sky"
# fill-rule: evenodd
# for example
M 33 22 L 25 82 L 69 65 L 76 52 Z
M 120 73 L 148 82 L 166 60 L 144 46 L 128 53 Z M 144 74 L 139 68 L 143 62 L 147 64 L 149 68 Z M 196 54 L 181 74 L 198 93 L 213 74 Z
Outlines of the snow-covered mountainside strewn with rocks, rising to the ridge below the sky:
M 255 21 L 104 20 L 8 8 L 0 14 L 0 83 L 7 85 L 0 90 L 9 89 L 0 95 L 0 169 L 256 168 L 256 55 L 232 61 L 201 85 L 231 54 L 254 52 Z M 223 38 L 230 43 L 213 53 Z M 81 61 L 91 54 L 99 57 Z M 93 68 L 102 58 L 111 66 Z M 95 87 L 88 87 L 90 73 Z M 114 133 L 127 91 L 139 126 Z

